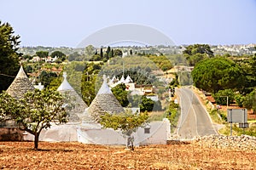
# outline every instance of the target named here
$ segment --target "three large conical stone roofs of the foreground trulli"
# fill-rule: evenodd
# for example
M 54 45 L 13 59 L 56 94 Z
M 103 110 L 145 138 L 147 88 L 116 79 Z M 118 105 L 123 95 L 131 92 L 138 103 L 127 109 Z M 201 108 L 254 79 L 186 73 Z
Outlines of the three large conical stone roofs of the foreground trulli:
M 67 105 L 71 106 L 71 110 L 67 111 L 69 122 L 98 122 L 102 114 L 124 112 L 119 101 L 114 97 L 107 84 L 107 79 L 103 78 L 102 88 L 96 94 L 96 98 L 92 101 L 90 107 L 84 103 L 83 99 L 76 93 L 72 86 L 67 82 L 67 73 L 63 73 L 63 81 L 57 91 L 61 92 L 67 99 Z M 9 86 L 7 93 L 12 97 L 20 99 L 27 91 L 35 88 L 26 77 L 26 73 L 20 66 L 20 71 L 15 77 L 14 82 Z

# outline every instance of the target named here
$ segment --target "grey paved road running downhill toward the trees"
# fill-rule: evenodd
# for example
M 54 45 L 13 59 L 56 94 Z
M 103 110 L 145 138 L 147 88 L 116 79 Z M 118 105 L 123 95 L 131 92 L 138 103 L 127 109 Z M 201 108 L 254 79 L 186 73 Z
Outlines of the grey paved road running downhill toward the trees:
M 205 136 L 216 134 L 212 127 L 212 122 L 207 111 L 192 89 L 177 89 L 179 103 L 181 106 L 181 116 L 178 122 L 177 135 L 181 139 L 193 139 L 195 136 Z

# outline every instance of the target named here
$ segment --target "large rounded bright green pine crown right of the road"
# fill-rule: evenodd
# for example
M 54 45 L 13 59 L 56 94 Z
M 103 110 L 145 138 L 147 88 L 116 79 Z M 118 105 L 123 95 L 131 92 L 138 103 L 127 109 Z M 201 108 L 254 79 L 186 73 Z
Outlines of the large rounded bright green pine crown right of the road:
M 239 89 L 243 86 L 241 68 L 230 59 L 204 59 L 192 71 L 196 88 L 217 93 L 223 89 Z

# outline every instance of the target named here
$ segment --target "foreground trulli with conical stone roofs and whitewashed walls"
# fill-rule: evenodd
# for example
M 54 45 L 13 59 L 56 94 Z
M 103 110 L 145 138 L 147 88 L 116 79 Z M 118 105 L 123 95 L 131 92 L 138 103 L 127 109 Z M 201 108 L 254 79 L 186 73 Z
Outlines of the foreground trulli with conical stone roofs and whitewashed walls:
M 70 95 L 74 101 L 73 111 L 69 111 L 68 125 L 52 126 L 48 130 L 43 130 L 40 134 L 40 141 L 79 141 L 84 144 L 126 144 L 126 139 L 119 131 L 113 129 L 102 129 L 98 123 L 102 114 L 119 114 L 124 109 L 118 100 L 112 94 L 104 77 L 102 87 L 96 94 L 90 107 L 84 104 L 79 94 L 75 92 L 72 86 L 67 82 L 67 74 L 64 73 L 64 80 L 58 88 L 63 95 Z M 22 91 L 20 90 L 22 89 Z M 10 85 L 8 93 L 15 98 L 21 98 L 27 91 L 34 90 L 32 83 L 29 82 L 22 67 Z M 71 104 L 71 105 L 73 105 Z M 81 108 L 78 108 L 81 106 Z M 86 108 L 86 109 L 85 109 Z M 15 126 L 15 125 L 13 125 Z M 145 133 L 143 127 L 139 127 L 134 144 L 166 144 L 168 134 L 170 133 L 170 122 L 166 119 L 163 122 L 150 122 L 148 125 L 150 131 Z M 32 140 L 32 134 L 26 133 L 24 140 Z

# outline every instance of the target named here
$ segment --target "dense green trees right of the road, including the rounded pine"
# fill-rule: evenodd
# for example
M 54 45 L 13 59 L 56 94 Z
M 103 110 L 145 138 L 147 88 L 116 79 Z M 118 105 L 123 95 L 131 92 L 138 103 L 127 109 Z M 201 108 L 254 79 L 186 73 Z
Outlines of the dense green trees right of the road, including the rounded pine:
M 256 111 L 256 54 L 201 59 L 195 63 L 192 77 L 195 87 L 212 93 L 219 105 L 236 101 L 237 105 Z

